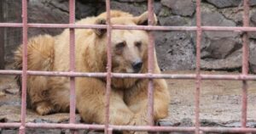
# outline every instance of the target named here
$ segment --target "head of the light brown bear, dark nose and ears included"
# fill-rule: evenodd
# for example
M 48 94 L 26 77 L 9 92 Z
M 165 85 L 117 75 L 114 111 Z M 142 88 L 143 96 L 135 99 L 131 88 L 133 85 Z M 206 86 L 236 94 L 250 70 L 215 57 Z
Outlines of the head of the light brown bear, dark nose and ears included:
M 105 25 L 105 14 L 100 15 L 96 24 Z M 154 14 L 154 25 L 157 23 Z M 148 12 L 139 16 L 132 16 L 120 11 L 111 12 L 112 25 L 148 25 Z M 106 29 L 95 29 L 95 35 L 99 43 L 104 47 L 107 55 L 108 36 Z M 145 73 L 148 61 L 148 32 L 138 30 L 112 30 L 112 72 L 114 73 Z M 107 61 L 107 56 L 104 58 Z M 136 79 L 113 79 L 114 87 L 131 87 Z M 128 84 L 128 83 L 131 84 Z

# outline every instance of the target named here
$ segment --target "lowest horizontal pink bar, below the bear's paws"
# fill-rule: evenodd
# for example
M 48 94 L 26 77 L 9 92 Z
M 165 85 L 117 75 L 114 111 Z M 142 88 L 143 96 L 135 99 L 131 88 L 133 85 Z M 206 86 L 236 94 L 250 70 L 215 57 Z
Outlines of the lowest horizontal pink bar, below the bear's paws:
M 20 123 L 0 123 L 0 128 L 19 128 Z M 104 125 L 86 125 L 86 124 L 57 124 L 57 123 L 26 123 L 27 128 L 43 129 L 86 129 L 86 130 L 104 130 Z M 109 126 L 115 131 L 186 131 L 193 132 L 195 127 L 174 127 L 174 126 Z M 200 127 L 205 132 L 256 132 L 256 128 L 241 127 Z

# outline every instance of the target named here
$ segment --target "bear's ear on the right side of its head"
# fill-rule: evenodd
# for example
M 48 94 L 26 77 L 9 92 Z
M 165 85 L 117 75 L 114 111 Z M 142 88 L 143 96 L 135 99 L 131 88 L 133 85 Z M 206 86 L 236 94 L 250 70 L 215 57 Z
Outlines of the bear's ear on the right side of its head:
M 136 16 L 133 18 L 133 21 L 137 24 L 137 25 L 148 25 L 148 11 L 144 12 L 143 14 Z M 157 17 L 154 14 L 154 24 L 153 25 L 157 25 Z

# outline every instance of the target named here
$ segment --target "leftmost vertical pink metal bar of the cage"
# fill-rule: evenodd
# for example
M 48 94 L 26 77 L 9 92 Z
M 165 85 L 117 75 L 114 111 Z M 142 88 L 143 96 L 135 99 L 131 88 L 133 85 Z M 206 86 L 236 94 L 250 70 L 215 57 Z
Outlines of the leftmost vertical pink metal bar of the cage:
M 26 78 L 27 78 L 27 1 L 22 0 L 22 93 L 21 93 L 21 126 L 20 134 L 26 132 Z

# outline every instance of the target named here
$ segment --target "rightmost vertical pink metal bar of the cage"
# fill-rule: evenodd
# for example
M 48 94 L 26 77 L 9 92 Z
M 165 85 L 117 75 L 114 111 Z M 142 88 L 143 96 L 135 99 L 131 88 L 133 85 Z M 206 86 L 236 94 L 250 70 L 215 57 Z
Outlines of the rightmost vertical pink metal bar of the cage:
M 243 1 L 243 26 L 249 26 L 249 0 Z M 248 75 L 248 34 L 244 32 L 242 36 L 242 75 Z M 247 81 L 242 81 L 242 96 L 241 96 L 241 126 L 247 126 Z

